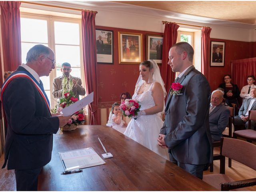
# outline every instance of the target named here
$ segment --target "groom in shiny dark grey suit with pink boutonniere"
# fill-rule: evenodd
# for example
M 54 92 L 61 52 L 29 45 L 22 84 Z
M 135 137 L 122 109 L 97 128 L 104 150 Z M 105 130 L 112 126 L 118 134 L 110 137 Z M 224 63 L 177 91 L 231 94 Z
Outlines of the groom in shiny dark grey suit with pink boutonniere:
M 180 93 L 169 92 L 164 126 L 158 145 L 169 148 L 170 160 L 202 179 L 204 165 L 210 163 L 211 135 L 209 128 L 210 86 L 204 75 L 193 66 L 194 50 L 187 42 L 174 44 L 168 64 L 180 72 L 176 82 Z

